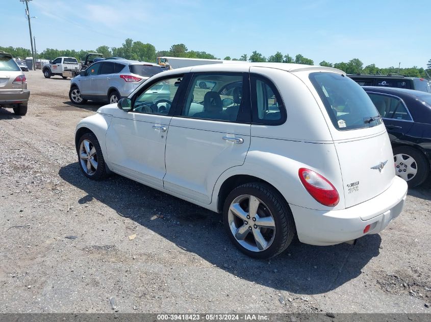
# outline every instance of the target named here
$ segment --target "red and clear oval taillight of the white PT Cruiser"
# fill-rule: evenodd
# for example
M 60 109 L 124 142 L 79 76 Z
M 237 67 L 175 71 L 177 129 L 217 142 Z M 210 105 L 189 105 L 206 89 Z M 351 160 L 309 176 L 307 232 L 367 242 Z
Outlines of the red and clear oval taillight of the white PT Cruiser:
M 332 183 L 310 169 L 300 168 L 298 174 L 303 186 L 314 199 L 324 206 L 337 206 L 340 197 Z

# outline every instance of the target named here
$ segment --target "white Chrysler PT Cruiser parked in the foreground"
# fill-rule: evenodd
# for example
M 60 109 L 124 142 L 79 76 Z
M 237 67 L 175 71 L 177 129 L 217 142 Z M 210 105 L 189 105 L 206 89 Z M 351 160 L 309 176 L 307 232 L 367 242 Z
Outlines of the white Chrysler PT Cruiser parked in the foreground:
M 164 83 L 169 99 L 154 97 Z M 149 78 L 79 122 L 75 145 L 87 178 L 112 171 L 222 213 L 236 247 L 268 258 L 295 233 L 352 243 L 401 213 L 407 183 L 376 115 L 337 69 L 214 64 Z

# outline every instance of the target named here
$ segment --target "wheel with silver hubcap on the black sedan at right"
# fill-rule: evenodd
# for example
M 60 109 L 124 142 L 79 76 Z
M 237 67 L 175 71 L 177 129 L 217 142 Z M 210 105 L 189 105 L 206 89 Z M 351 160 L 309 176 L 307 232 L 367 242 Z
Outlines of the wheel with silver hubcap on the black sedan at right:
M 421 185 L 429 175 L 429 163 L 422 152 L 411 147 L 393 149 L 395 174 L 407 181 L 409 188 Z

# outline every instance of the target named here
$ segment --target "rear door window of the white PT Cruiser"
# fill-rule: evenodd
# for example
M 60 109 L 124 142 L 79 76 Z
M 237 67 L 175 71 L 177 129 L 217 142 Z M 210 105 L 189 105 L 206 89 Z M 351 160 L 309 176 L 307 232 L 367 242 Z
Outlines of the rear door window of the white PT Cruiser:
M 235 122 L 243 105 L 242 92 L 242 74 L 196 74 L 181 115 Z

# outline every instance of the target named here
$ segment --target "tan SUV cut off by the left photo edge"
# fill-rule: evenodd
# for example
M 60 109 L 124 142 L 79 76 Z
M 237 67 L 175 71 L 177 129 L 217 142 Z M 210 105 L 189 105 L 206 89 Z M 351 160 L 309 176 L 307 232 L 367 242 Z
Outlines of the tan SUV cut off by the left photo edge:
M 16 115 L 25 115 L 29 97 L 26 76 L 12 55 L 0 50 L 0 106 L 13 108 Z

